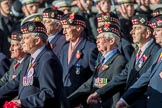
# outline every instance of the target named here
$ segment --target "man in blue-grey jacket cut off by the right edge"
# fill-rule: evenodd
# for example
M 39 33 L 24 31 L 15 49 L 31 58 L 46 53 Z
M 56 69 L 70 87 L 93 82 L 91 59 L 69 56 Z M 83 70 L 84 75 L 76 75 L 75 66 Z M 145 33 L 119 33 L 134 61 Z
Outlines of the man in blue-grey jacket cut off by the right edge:
M 151 26 L 154 28 L 156 43 L 162 47 L 162 16 L 157 16 L 151 20 Z M 154 54 L 150 68 L 141 78 L 131 86 L 117 103 L 116 108 L 123 108 L 133 104 L 139 96 L 147 96 L 146 108 L 161 108 L 162 106 L 162 49 Z M 145 108 L 145 107 L 143 107 Z

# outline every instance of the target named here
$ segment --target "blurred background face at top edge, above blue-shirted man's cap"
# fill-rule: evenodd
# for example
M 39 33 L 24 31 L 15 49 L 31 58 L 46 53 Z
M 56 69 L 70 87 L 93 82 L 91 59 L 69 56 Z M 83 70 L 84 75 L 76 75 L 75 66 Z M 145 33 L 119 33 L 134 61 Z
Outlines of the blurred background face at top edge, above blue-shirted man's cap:
M 110 12 L 110 1 L 109 0 L 102 0 L 99 2 L 99 5 L 103 12 Z

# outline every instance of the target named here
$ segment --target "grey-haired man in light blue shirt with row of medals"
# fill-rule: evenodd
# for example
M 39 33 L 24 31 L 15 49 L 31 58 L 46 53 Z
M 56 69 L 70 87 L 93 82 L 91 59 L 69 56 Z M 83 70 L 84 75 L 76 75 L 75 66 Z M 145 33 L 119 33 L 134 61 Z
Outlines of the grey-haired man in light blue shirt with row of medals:
M 79 100 L 83 100 L 83 97 L 87 98 L 90 93 L 108 84 L 125 67 L 126 60 L 117 49 L 120 41 L 119 28 L 112 24 L 105 24 L 98 28 L 98 33 L 96 43 L 102 57 L 98 56 L 98 63 L 96 64 L 94 75 L 68 97 L 71 105 L 78 104 L 80 102 Z M 112 98 L 107 99 L 97 105 L 90 105 L 90 107 L 111 108 L 112 101 Z

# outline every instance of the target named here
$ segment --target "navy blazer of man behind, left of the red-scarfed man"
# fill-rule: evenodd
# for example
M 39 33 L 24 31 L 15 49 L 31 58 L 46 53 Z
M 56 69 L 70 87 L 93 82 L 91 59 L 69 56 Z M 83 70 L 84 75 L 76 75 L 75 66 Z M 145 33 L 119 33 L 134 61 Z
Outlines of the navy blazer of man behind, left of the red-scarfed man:
M 57 57 L 60 56 L 62 47 L 66 44 L 65 36 L 59 32 L 50 42 L 50 47 Z

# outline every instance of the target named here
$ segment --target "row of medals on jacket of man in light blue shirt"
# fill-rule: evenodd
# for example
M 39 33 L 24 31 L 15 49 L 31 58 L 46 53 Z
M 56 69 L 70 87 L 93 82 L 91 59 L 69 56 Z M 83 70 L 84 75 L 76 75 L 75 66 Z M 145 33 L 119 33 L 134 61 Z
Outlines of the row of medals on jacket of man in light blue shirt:
M 108 83 L 107 78 L 95 78 L 94 79 L 94 86 L 96 86 L 97 88 L 102 88 L 103 86 L 105 86 Z

